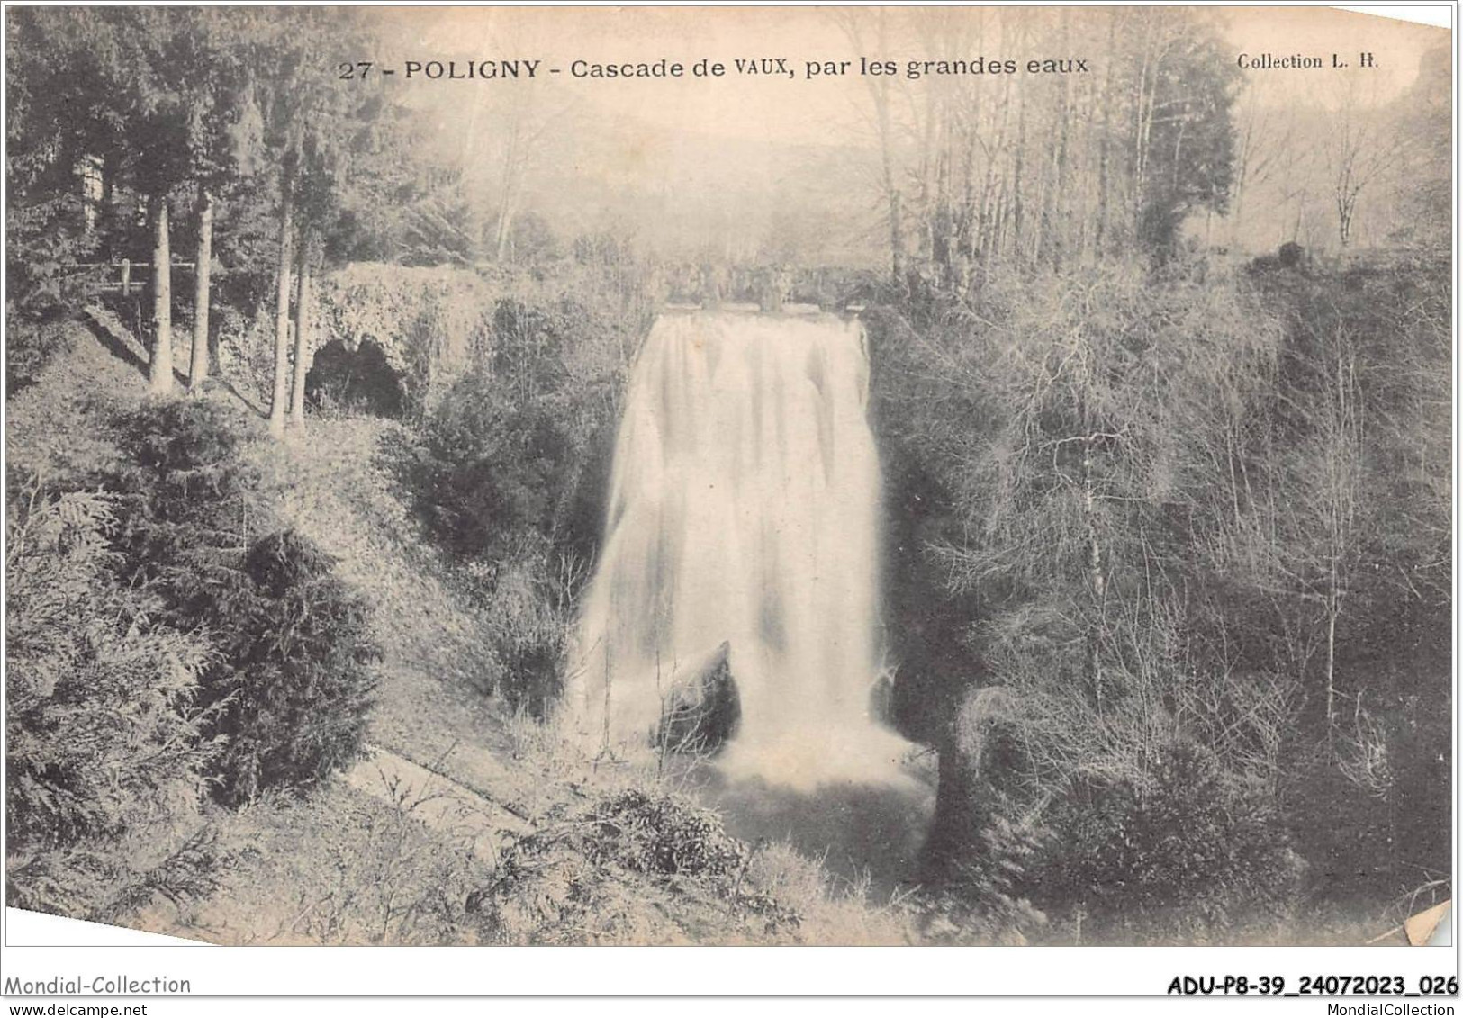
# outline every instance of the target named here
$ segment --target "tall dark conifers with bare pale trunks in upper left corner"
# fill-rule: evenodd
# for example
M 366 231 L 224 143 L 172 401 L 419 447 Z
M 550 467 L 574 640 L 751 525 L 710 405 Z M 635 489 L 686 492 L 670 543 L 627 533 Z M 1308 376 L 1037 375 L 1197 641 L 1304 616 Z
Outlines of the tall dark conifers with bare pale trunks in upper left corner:
M 341 45 L 375 51 L 354 12 L 35 9 L 7 32 L 12 391 L 53 352 L 44 325 L 108 303 L 154 364 L 173 360 L 157 344 L 170 322 L 203 320 L 217 369 L 268 395 L 272 379 L 256 388 L 269 372 L 255 360 L 288 322 L 288 285 L 275 303 L 281 257 L 287 274 L 293 260 L 301 272 L 348 259 L 461 260 L 464 238 L 439 195 L 455 174 L 413 143 L 418 123 L 379 92 L 338 88 L 334 64 L 316 59 Z M 171 301 L 155 303 L 155 265 L 170 249 L 183 265 L 170 274 Z M 212 266 L 202 291 L 192 257 Z M 123 259 L 127 293 L 117 290 Z M 217 314 L 205 319 L 195 300 Z M 187 367 L 190 383 L 209 373 Z M 164 391 L 168 370 L 155 374 Z

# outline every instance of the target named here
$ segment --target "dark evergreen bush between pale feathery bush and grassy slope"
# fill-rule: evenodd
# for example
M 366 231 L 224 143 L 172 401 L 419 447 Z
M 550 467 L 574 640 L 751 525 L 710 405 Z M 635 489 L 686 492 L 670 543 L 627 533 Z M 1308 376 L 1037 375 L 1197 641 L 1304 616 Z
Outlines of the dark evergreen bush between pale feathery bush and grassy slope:
M 148 404 L 119 421 L 130 465 L 116 478 L 132 576 L 157 589 L 170 625 L 206 632 L 218 651 L 200 704 L 208 733 L 227 737 L 212 775 L 230 804 L 350 764 L 380 657 L 366 603 L 325 551 L 293 531 L 255 535 L 269 516 L 241 456 L 246 427 L 217 402 Z

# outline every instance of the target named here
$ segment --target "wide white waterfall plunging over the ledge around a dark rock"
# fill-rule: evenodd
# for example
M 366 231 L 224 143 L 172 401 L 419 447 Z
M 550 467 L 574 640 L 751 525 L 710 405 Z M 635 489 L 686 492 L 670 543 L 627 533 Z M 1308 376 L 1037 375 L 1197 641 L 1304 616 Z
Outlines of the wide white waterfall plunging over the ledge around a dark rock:
M 726 657 L 740 723 L 717 765 L 791 787 L 897 781 L 870 715 L 879 465 L 862 325 L 667 312 L 635 363 L 566 706 L 644 743 Z

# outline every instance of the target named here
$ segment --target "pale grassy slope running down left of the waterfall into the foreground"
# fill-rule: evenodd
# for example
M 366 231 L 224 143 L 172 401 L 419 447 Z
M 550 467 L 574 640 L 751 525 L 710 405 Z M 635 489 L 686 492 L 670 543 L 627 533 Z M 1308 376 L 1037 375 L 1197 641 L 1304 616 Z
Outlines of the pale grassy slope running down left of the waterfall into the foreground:
M 78 326 L 7 402 L 12 470 L 79 481 L 114 462 L 105 421 L 146 398 L 130 336 Z M 202 396 L 244 402 L 227 385 Z M 247 405 L 247 402 L 244 402 Z M 252 408 L 253 410 L 253 408 Z M 221 943 L 901 943 L 787 844 L 730 838 L 685 768 L 597 764 L 483 690 L 493 648 L 418 535 L 383 443 L 402 426 L 316 420 L 249 455 L 281 525 L 336 557 L 383 645 L 369 753 L 304 796 L 208 806 L 154 837 L 214 860 L 206 894 L 154 894 L 127 926 Z M 165 875 L 158 885 L 165 886 Z

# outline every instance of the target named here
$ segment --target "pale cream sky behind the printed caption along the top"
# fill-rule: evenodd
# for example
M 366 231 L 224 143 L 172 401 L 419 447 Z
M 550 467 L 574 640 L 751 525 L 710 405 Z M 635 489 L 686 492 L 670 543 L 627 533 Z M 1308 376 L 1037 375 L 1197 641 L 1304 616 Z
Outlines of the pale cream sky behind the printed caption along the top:
M 856 73 L 803 78 L 806 61 L 851 60 L 860 53 L 840 23 L 844 13 L 828 7 L 411 7 L 377 9 L 401 59 L 543 59 L 563 67 L 540 86 L 549 102 L 562 102 L 612 118 L 638 120 L 672 132 L 758 140 L 770 143 L 822 142 L 832 136 L 868 135 L 868 79 Z M 1033 23 L 1050 12 L 1031 10 Z M 1447 41 L 1447 31 L 1391 18 L 1328 7 L 1211 9 L 1223 35 L 1239 53 L 1320 54 L 1362 50 L 1375 54 L 1364 97 L 1352 101 L 1383 104 L 1400 95 L 1416 78 L 1418 60 Z M 1009 16 L 1011 12 L 1007 12 Z M 863 22 L 865 56 L 900 61 L 933 56 L 929 42 L 891 38 L 875 42 L 873 9 L 857 15 Z M 988 45 L 983 53 L 1002 57 L 1090 57 L 1100 73 L 1096 45 L 1080 41 L 1071 54 L 1058 53 L 1055 34 L 1018 45 Z M 992 50 L 998 53 L 992 53 Z M 977 56 L 971 50 L 970 56 Z M 575 80 L 575 59 L 601 63 L 679 60 L 688 69 L 680 80 Z M 707 57 L 729 66 L 720 79 L 689 76 L 692 64 Z M 783 57 L 796 78 L 739 76 L 734 59 Z M 543 73 L 543 72 L 541 72 Z M 1324 102 L 1328 69 L 1306 72 L 1249 72 L 1286 101 Z M 473 104 L 489 89 L 522 88 L 518 83 L 426 82 L 405 83 L 426 92 L 435 104 Z M 925 83 L 903 82 L 901 91 L 917 101 Z

